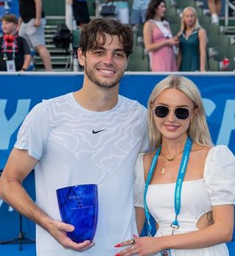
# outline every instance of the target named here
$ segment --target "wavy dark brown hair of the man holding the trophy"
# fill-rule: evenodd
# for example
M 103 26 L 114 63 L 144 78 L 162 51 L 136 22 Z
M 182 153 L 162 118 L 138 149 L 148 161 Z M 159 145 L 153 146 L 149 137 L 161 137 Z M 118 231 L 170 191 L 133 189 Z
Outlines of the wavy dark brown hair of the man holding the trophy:
M 79 48 L 86 51 L 98 49 L 106 43 L 106 35 L 117 35 L 123 44 L 126 56 L 132 53 L 133 31 L 130 26 L 120 23 L 114 18 L 95 18 L 89 24 L 85 24 L 79 42 Z

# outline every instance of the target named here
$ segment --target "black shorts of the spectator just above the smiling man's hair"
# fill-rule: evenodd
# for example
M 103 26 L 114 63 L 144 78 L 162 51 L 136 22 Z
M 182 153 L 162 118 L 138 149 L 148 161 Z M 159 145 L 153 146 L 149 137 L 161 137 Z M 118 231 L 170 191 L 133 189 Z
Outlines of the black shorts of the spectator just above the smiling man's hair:
M 73 4 L 73 16 L 76 25 L 82 27 L 90 22 L 90 15 L 86 0 L 66 0 L 68 4 Z

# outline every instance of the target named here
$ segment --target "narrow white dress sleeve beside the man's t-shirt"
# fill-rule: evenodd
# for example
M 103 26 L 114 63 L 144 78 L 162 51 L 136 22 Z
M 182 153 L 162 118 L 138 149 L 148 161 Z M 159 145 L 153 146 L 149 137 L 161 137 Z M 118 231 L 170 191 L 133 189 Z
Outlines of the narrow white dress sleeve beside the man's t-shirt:
M 135 165 L 134 206 L 144 207 L 145 174 L 143 167 L 144 153 L 139 154 Z

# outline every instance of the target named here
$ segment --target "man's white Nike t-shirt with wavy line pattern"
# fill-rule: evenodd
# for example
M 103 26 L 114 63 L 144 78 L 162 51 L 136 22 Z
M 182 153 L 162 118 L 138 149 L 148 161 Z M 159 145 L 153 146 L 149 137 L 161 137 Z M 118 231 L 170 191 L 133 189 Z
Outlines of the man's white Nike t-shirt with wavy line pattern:
M 64 249 L 36 227 L 37 256 L 110 256 L 116 243 L 137 234 L 134 213 L 134 166 L 147 149 L 146 110 L 118 97 L 109 111 L 81 107 L 73 93 L 37 104 L 26 116 L 17 149 L 27 149 L 35 166 L 36 203 L 51 218 L 61 219 L 56 191 L 71 185 L 98 184 L 95 246 L 84 252 Z

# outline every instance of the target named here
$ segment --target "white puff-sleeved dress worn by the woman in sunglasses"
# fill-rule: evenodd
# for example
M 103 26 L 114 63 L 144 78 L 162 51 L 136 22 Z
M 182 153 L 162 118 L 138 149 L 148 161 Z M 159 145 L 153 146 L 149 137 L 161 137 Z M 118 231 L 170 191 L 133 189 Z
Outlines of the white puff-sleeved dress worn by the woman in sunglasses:
M 155 237 L 171 235 L 170 224 L 175 219 L 174 193 L 176 183 L 148 186 L 148 210 L 159 224 Z M 143 207 L 145 188 L 143 154 L 137 158 L 134 182 L 135 206 Z M 181 191 L 180 227 L 175 234 L 198 230 L 200 216 L 211 206 L 234 205 L 235 158 L 227 146 L 214 146 L 206 157 L 203 179 L 185 181 Z M 225 243 L 202 249 L 173 249 L 176 256 L 228 256 Z M 157 254 L 160 255 L 160 254 Z

